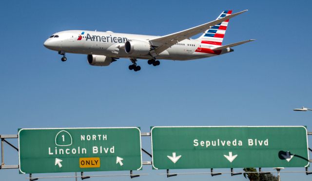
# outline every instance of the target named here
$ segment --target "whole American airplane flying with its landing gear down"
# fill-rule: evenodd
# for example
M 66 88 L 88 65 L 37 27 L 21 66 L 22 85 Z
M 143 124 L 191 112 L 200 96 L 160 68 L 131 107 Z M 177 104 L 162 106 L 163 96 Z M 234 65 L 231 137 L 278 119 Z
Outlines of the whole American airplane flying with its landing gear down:
M 129 58 L 132 62 L 129 70 L 137 72 L 141 70 L 137 59 L 158 66 L 159 59 L 184 61 L 227 54 L 234 51 L 231 47 L 253 41 L 222 45 L 229 19 L 246 11 L 234 14 L 232 10 L 223 11 L 214 21 L 166 36 L 68 30 L 53 34 L 43 45 L 63 55 L 63 62 L 67 60 L 65 53 L 87 54 L 88 63 L 93 66 L 108 66 L 118 58 Z M 191 38 L 199 33 L 203 34 Z

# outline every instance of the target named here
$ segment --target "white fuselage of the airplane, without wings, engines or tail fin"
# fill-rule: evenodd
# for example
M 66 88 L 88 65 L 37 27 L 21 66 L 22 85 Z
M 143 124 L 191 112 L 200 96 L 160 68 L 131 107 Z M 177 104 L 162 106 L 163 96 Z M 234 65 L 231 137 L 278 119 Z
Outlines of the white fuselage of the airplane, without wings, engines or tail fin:
M 83 33 L 84 32 L 84 33 Z M 55 33 L 44 42 L 44 46 L 55 51 L 74 54 L 96 54 L 105 55 L 113 58 L 135 58 L 135 59 L 168 59 L 168 60 L 192 60 L 198 58 L 210 57 L 218 54 L 228 53 L 220 51 L 218 54 L 202 52 L 196 50 L 210 49 L 203 47 L 200 40 L 185 39 L 169 47 L 167 50 L 152 57 L 146 55 L 127 54 L 124 49 L 127 40 L 140 40 L 148 42 L 149 39 L 159 36 L 146 36 L 134 34 L 122 34 L 113 32 L 98 32 L 85 30 L 69 30 Z

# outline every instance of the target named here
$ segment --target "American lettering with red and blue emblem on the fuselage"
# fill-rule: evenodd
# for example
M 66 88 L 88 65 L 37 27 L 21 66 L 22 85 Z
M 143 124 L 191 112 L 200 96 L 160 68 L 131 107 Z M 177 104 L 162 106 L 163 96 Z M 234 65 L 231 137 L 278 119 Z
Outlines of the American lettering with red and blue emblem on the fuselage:
M 82 39 L 82 35 L 84 35 L 84 32 L 81 32 L 81 34 L 78 36 L 77 40 L 81 40 Z M 98 35 L 90 35 L 87 34 L 87 36 L 85 36 L 86 41 L 90 40 L 90 41 L 99 41 L 99 42 L 111 42 L 111 43 L 125 43 L 128 38 L 126 37 L 117 37 L 117 36 L 98 36 Z

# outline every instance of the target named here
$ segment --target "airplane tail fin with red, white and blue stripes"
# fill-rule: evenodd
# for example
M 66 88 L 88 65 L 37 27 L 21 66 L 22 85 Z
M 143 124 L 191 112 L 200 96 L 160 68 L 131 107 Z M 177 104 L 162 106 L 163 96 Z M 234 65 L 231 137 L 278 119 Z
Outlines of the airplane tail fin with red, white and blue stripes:
M 220 19 L 231 14 L 232 10 L 223 11 L 221 15 L 216 19 Z M 206 32 L 202 36 L 200 36 L 197 39 L 201 40 L 201 44 L 221 46 L 228 23 L 229 19 L 223 21 L 222 23 L 216 24 L 215 26 L 212 26 L 210 29 L 206 30 Z

